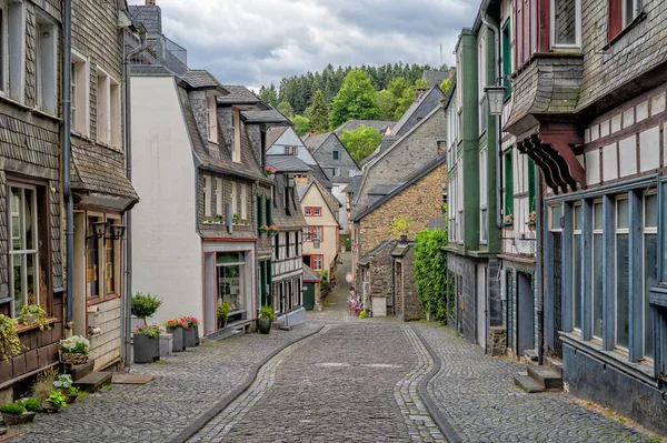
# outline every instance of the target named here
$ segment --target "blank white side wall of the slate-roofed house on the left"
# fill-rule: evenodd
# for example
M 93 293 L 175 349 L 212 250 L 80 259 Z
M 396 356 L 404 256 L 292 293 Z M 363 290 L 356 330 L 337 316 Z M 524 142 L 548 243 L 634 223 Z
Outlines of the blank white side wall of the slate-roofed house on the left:
M 132 183 L 141 195 L 132 211 L 132 290 L 162 300 L 153 323 L 202 319 L 197 169 L 175 79 L 132 77 L 131 97 Z

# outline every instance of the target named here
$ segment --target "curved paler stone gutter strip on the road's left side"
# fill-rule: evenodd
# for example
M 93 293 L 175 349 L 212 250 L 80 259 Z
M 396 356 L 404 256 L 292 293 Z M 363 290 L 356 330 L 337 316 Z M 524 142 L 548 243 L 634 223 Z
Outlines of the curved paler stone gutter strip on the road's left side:
M 327 333 L 330 326 L 325 326 L 319 334 Z M 250 387 L 239 395 L 229 406 L 218 414 L 213 420 L 208 422 L 200 432 L 188 440 L 191 443 L 202 441 L 221 442 L 225 436 L 231 431 L 235 424 L 243 419 L 243 416 L 252 409 L 257 402 L 273 386 L 276 381 L 276 371 L 278 366 L 297 349 L 303 346 L 308 341 L 313 340 L 316 335 L 305 339 L 298 343 L 280 351 L 258 372 L 257 379 Z

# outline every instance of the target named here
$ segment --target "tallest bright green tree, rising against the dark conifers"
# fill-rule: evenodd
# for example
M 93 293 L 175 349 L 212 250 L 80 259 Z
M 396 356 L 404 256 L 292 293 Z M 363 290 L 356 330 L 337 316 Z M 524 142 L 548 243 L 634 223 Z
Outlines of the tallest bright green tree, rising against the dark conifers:
M 348 120 L 374 120 L 380 114 L 375 89 L 361 70 L 350 71 L 331 105 L 331 128 L 338 128 Z

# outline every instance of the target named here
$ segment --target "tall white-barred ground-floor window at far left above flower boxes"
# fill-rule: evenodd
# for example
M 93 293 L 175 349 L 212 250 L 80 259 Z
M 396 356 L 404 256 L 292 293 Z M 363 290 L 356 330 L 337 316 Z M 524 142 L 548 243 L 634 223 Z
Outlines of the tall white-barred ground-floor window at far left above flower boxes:
M 9 268 L 12 316 L 26 304 L 39 304 L 40 282 L 38 261 L 37 189 L 34 187 L 10 183 L 11 195 L 9 232 L 11 250 Z

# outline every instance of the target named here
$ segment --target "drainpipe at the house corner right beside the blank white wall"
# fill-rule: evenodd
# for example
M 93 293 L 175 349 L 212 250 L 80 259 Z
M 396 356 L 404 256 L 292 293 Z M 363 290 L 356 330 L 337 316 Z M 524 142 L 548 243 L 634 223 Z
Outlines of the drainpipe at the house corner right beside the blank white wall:
M 71 0 L 66 0 L 71 1 Z M 122 75 L 122 88 L 125 93 L 123 100 L 123 113 L 125 113 L 125 147 L 126 147 L 126 175 L 130 183 L 132 182 L 132 138 L 131 138 L 131 105 L 130 105 L 130 63 L 129 60 L 133 56 L 146 49 L 146 28 L 143 24 L 139 24 L 139 37 L 141 39 L 141 44 L 139 48 L 131 50 L 130 52 L 125 53 L 125 44 L 123 44 L 123 75 Z M 125 273 L 126 273 L 126 284 L 125 284 L 125 348 L 123 348 L 123 362 L 126 366 L 126 371 L 129 371 L 131 364 L 131 353 L 132 353 L 132 211 L 127 211 L 125 214 L 126 218 L 126 240 L 125 240 Z

